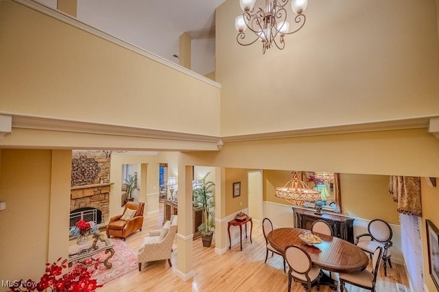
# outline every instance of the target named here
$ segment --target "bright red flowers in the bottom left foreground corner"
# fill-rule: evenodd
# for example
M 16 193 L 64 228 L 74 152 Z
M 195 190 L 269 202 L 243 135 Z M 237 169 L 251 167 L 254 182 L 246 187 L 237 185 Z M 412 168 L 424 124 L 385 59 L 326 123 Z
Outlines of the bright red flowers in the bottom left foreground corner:
M 93 292 L 103 286 L 98 285 L 96 280 L 91 278 L 94 270 L 90 271 L 87 268 L 87 265 L 93 265 L 96 269 L 99 260 L 86 260 L 84 264 L 75 265 L 69 273 L 62 276 L 62 269 L 67 268 L 67 260 L 62 260 L 61 263 L 60 261 L 61 258 L 58 258 L 56 263 L 46 264 L 46 273 L 41 277 L 40 282 L 30 279 L 14 281 L 14 285 L 9 287 L 8 292 L 45 291 L 45 289 L 51 289 L 52 292 Z

